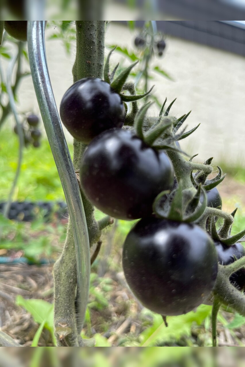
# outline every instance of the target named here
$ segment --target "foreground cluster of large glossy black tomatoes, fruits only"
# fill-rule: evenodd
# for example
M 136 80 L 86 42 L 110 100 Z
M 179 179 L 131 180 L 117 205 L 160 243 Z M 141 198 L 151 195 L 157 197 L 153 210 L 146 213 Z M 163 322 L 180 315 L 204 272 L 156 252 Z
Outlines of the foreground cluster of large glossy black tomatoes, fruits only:
M 196 224 L 153 213 L 156 196 L 173 188 L 171 160 L 134 129 L 123 127 L 124 104 L 109 83 L 78 80 L 65 92 L 60 116 L 71 135 L 88 144 L 80 181 L 89 201 L 111 217 L 140 219 L 123 246 L 123 270 L 135 296 L 161 315 L 180 315 L 205 302 L 218 261 L 229 264 L 245 254 L 244 248 L 214 243 Z M 209 206 L 221 205 L 216 188 L 207 192 L 207 200 Z M 241 271 L 231 281 L 241 289 L 244 273 L 243 285 Z

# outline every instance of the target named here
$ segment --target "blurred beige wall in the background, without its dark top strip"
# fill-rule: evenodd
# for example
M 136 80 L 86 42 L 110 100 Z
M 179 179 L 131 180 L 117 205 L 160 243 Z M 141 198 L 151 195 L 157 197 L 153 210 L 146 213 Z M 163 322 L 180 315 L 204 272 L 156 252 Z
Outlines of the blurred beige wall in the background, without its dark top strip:
M 54 29 L 47 31 L 55 32 Z M 136 34 L 136 32 L 135 32 Z M 106 44 L 132 47 L 134 34 L 128 28 L 109 23 Z M 192 110 L 188 126 L 201 123 L 198 130 L 182 142 L 190 154 L 199 153 L 199 160 L 214 156 L 221 160 L 239 161 L 245 166 L 245 58 L 229 52 L 202 46 L 167 36 L 164 58 L 156 58 L 154 64 L 161 65 L 175 81 L 155 75 L 155 93 L 164 101 L 175 97 L 172 113 L 181 116 Z M 46 42 L 47 61 L 57 105 L 65 90 L 72 84 L 72 64 L 75 58 L 75 42 L 70 57 L 61 41 Z M 116 63 L 121 55 L 112 57 Z M 127 62 L 125 62 L 125 65 Z M 31 78 L 26 78 L 19 94 L 19 110 L 38 111 Z M 158 109 L 153 106 L 151 113 Z M 219 135 L 219 136 L 218 136 Z M 70 140 L 67 133 L 66 136 Z

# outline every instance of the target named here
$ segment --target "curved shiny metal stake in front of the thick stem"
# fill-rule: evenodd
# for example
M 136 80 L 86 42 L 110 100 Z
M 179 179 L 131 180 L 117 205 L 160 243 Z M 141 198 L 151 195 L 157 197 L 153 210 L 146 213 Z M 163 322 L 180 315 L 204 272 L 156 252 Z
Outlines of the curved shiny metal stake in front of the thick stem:
M 47 68 L 45 22 L 28 21 L 28 53 L 32 80 L 50 148 L 63 186 L 77 255 L 79 328 L 84 322 L 89 295 L 90 251 L 88 228 L 78 181 L 61 127 Z

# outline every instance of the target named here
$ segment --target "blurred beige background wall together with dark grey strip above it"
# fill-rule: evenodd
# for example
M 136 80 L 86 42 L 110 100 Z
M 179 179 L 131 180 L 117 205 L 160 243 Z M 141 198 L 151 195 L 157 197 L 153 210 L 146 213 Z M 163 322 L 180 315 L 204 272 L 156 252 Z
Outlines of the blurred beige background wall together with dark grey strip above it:
M 163 103 L 177 101 L 172 114 L 180 117 L 192 110 L 188 126 L 201 123 L 195 135 L 183 141 L 188 153 L 198 153 L 199 160 L 214 156 L 217 162 L 245 165 L 245 24 L 237 21 L 158 21 L 157 28 L 164 33 L 166 49 L 163 57 L 152 59 L 171 79 L 152 73 L 149 87 Z M 143 22 L 136 22 L 142 26 Z M 64 92 L 72 84 L 71 68 L 75 58 L 75 40 L 70 43 L 70 53 L 64 50 L 57 36 L 58 28 L 50 25 L 46 31 L 47 61 L 54 95 L 59 108 Z M 106 45 L 134 49 L 134 39 L 139 33 L 129 30 L 126 23 L 110 22 L 107 25 Z M 52 37 L 52 40 L 50 40 Z M 74 36 L 75 37 L 75 36 Z M 107 49 L 108 52 L 109 48 Z M 120 66 L 130 59 L 114 52 L 112 61 Z M 153 67 L 152 66 L 152 67 Z M 3 59 L 4 67 L 4 59 Z M 38 111 L 31 77 L 25 78 L 19 94 L 22 111 Z M 153 105 L 152 115 L 159 112 Z M 68 141 L 72 141 L 69 134 Z

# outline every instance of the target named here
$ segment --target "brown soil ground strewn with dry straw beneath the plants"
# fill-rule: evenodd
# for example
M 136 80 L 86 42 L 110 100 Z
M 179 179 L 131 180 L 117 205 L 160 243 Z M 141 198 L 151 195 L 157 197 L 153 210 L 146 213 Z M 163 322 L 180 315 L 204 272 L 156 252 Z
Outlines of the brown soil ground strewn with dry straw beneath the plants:
M 231 212 L 234 207 L 234 199 L 237 198 L 241 207 L 245 207 L 244 185 L 227 177 L 219 187 L 223 203 L 227 211 Z M 236 199 L 235 199 L 236 200 Z M 106 244 L 109 240 L 109 234 L 104 239 L 106 250 L 99 254 L 95 270 L 100 272 L 100 276 L 105 280 L 110 279 L 109 287 L 106 289 L 106 299 L 108 306 L 103 309 L 90 309 L 91 325 L 84 328 L 84 332 L 90 337 L 95 333 L 104 335 L 111 345 L 118 346 L 128 341 L 136 340 L 137 336 L 146 328 L 145 321 L 142 322 L 140 312 L 142 306 L 135 300 L 128 289 L 123 272 L 118 268 L 106 265 L 103 262 L 104 251 L 110 251 L 110 264 L 121 264 L 121 249 L 111 250 Z M 58 239 L 57 239 L 58 240 Z M 57 255 L 56 255 L 57 256 Z M 108 263 L 107 263 L 108 264 Z M 118 270 L 119 269 L 119 270 Z M 94 270 L 94 271 L 95 271 Z M 100 277 L 100 279 L 101 279 Z M 103 294 L 105 284 L 98 281 L 93 284 L 96 291 Z M 33 337 L 38 329 L 38 324 L 33 321 L 31 315 L 23 308 L 15 304 L 15 297 L 22 295 L 24 298 L 40 298 L 48 302 L 53 301 L 53 276 L 52 265 L 0 265 L 0 330 L 6 332 L 21 345 L 30 346 Z M 95 301 L 93 295 L 90 295 L 90 302 Z M 232 315 L 222 311 L 222 316 L 230 321 Z M 148 326 L 150 320 L 148 320 Z M 219 346 L 245 346 L 245 326 L 233 330 L 231 333 L 223 324 L 218 323 L 217 332 Z M 202 346 L 200 334 L 205 334 L 204 327 L 193 327 L 191 343 L 192 345 Z M 43 330 L 39 346 L 52 346 L 52 338 L 49 331 Z M 178 343 L 168 345 L 189 345 L 185 338 Z

